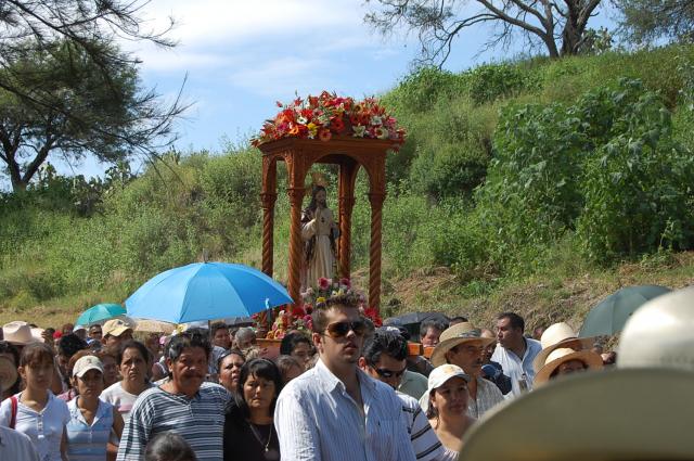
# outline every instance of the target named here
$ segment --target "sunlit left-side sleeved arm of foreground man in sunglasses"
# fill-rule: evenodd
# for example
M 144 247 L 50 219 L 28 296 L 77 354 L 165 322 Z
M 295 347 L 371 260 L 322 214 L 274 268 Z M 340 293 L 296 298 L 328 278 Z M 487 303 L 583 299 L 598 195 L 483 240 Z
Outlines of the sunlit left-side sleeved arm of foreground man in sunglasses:
M 299 396 L 292 392 L 280 394 L 274 409 L 274 426 L 282 459 L 321 461 L 318 424 L 301 405 Z

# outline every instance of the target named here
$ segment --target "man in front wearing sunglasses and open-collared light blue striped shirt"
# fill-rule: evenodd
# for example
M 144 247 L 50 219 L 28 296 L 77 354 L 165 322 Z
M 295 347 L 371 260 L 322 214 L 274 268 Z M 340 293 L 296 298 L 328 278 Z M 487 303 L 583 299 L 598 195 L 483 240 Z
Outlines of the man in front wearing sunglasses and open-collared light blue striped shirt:
M 358 367 L 367 324 L 352 292 L 313 310 L 316 367 L 282 389 L 274 411 L 282 459 L 414 461 L 393 388 Z

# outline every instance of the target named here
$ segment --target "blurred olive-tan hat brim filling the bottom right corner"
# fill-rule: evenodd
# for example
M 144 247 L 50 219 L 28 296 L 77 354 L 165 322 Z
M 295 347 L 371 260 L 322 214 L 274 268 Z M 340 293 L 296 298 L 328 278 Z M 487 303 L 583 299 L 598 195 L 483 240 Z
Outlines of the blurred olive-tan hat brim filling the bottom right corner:
M 580 373 L 490 410 L 459 460 L 692 459 L 692 388 L 694 374 L 681 370 Z

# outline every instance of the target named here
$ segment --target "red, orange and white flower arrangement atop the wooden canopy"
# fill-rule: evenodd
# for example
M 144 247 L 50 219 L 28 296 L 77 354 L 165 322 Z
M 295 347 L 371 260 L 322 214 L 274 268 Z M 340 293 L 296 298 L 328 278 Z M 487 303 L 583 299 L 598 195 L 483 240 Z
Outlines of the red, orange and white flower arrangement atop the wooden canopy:
M 404 141 L 404 129 L 398 127 L 376 98 L 355 101 L 323 91 L 318 97 L 297 98 L 287 105 L 277 104 L 281 111 L 266 120 L 260 133 L 250 140 L 253 145 L 284 138 L 330 141 L 334 135 L 389 139 L 397 144 Z

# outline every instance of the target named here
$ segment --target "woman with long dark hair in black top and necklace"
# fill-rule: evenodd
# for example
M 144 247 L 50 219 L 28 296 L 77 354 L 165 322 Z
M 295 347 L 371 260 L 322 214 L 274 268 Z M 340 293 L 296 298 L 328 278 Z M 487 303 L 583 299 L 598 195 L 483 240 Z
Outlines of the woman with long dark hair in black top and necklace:
M 280 441 L 272 422 L 282 389 L 280 370 L 270 360 L 244 363 L 235 401 L 224 423 L 224 461 L 277 461 Z

